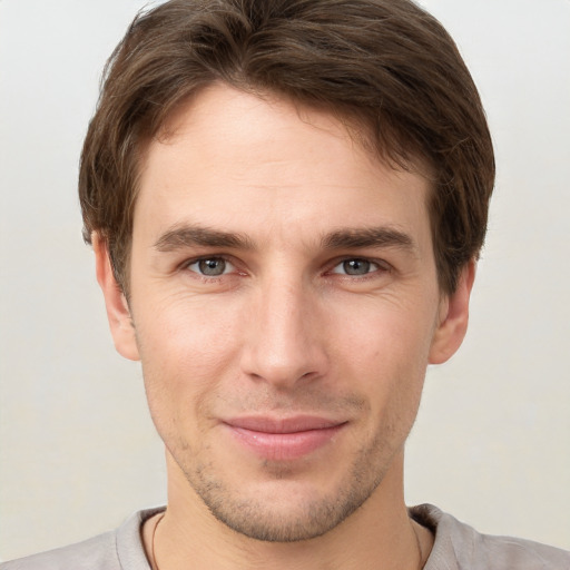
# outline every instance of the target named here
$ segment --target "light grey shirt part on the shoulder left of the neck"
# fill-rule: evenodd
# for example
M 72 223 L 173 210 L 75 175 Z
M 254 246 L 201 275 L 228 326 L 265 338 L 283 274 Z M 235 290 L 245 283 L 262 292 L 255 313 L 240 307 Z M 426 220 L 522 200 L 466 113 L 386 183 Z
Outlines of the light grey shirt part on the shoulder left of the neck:
M 0 563 L 0 570 L 147 570 L 141 523 L 157 509 L 139 511 L 117 530 L 48 552 Z

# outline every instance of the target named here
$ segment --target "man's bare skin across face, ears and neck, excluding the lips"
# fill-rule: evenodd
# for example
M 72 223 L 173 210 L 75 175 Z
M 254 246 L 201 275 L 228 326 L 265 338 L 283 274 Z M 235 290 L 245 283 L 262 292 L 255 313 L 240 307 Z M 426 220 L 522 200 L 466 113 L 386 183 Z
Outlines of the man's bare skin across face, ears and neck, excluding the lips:
M 95 252 L 166 446 L 161 570 L 423 564 L 403 446 L 428 364 L 463 340 L 474 274 L 439 289 L 429 193 L 334 117 L 224 85 L 149 142 L 128 303 L 98 236 Z M 299 414 L 338 428 L 294 458 L 261 456 L 232 426 Z

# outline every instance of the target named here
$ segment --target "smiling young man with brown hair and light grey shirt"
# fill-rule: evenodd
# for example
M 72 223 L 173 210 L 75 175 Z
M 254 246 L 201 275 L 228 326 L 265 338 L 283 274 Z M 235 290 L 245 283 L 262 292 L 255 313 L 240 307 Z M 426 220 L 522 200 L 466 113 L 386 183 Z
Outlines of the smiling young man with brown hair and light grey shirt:
M 426 365 L 466 331 L 493 178 L 469 72 L 407 1 L 138 17 L 80 197 L 168 504 L 6 568 L 570 567 L 403 501 Z

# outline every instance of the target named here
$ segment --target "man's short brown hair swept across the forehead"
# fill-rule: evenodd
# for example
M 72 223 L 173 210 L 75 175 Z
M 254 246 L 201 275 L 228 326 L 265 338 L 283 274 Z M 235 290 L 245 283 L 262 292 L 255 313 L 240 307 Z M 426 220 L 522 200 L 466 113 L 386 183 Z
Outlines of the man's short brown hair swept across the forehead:
M 493 148 L 453 40 L 410 0 L 170 0 L 135 18 L 107 62 L 79 175 L 83 237 L 107 240 L 124 291 L 144 144 L 214 81 L 356 119 L 379 158 L 428 164 L 440 286 L 454 291 L 483 244 Z

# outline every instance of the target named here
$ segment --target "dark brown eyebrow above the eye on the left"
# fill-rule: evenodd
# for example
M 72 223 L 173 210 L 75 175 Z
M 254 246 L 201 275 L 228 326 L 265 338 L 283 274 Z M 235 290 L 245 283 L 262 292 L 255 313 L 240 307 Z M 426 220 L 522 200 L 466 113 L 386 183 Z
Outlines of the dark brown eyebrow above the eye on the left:
M 193 225 L 169 229 L 154 245 L 155 249 L 164 253 L 193 246 L 253 249 L 252 242 L 244 235 Z

